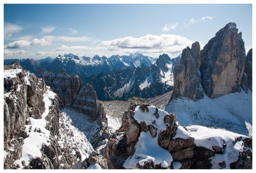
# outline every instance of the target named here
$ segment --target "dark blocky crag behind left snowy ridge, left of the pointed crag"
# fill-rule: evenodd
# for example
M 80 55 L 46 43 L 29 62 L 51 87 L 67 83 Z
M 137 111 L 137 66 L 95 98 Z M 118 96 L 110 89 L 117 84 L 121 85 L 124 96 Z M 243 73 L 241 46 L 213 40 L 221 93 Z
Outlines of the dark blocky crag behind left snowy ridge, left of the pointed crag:
M 48 73 L 46 69 L 42 69 L 39 71 L 38 77 L 42 77 L 47 86 L 50 86 L 52 91 L 58 94 L 61 108 L 71 107 L 83 86 L 78 75 L 68 75 L 64 68 L 59 74 Z

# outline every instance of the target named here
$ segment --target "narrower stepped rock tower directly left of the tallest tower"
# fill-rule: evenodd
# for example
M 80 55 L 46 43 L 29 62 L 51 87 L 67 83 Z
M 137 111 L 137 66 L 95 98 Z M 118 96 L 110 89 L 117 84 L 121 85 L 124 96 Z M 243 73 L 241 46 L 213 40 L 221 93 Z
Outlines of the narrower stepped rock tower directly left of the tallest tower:
M 182 51 L 180 64 L 175 66 L 173 76 L 172 98 L 184 96 L 192 100 L 204 98 L 204 90 L 201 86 L 200 45 L 196 41 L 191 49 L 187 47 Z

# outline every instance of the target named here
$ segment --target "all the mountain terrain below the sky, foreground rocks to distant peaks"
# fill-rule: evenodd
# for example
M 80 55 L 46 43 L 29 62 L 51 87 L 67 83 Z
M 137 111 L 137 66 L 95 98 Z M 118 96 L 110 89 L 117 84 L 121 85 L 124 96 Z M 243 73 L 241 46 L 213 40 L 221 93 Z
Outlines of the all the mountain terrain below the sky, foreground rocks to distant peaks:
M 174 59 L 4 63 L 4 169 L 252 169 L 252 49 L 235 23 Z

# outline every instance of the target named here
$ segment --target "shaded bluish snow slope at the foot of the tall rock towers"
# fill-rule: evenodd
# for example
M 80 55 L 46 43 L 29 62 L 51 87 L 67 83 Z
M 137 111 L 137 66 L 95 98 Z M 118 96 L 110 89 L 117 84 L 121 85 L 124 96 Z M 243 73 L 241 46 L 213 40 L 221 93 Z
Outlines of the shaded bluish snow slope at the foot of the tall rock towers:
M 165 110 L 175 113 L 183 126 L 200 124 L 248 135 L 246 126 L 252 124 L 252 91 L 245 93 L 241 89 L 240 93 L 213 99 L 204 94 L 197 101 L 178 98 L 168 103 Z

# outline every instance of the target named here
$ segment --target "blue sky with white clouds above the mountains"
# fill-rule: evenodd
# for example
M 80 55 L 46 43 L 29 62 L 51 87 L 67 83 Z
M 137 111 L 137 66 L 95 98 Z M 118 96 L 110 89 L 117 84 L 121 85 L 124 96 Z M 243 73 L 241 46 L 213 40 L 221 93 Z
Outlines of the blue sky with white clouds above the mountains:
M 228 22 L 252 47 L 251 4 L 4 4 L 4 58 L 201 49 Z

